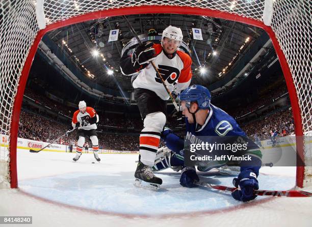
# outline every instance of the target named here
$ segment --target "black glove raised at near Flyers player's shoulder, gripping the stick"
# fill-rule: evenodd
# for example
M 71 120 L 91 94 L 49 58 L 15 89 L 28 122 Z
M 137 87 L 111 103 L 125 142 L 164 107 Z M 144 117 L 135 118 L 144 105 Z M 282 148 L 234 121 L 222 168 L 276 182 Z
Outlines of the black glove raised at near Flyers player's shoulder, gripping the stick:
M 139 45 L 134 53 L 132 54 L 132 63 L 135 66 L 136 64 L 144 65 L 148 64 L 155 58 L 155 49 L 152 48 L 153 42 L 146 42 L 142 45 Z M 144 68 L 147 65 L 143 66 Z

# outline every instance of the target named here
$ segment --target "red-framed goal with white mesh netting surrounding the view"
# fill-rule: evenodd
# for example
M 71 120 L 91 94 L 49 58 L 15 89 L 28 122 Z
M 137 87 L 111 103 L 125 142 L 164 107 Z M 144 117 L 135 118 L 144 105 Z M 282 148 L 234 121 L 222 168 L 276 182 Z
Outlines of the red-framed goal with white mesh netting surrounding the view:
M 262 27 L 270 36 L 290 93 L 297 150 L 311 152 L 302 136 L 311 131 L 311 7 L 303 0 L 2 0 L 0 2 L 0 187 L 17 187 L 19 113 L 28 73 L 42 36 L 62 26 L 110 16 L 146 13 L 218 17 Z M 311 182 L 297 167 L 297 186 Z

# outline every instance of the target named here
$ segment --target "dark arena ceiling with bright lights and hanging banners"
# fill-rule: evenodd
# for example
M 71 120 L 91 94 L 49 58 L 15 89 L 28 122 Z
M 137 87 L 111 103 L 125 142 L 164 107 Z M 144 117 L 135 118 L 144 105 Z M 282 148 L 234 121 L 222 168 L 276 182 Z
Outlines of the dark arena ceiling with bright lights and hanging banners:
M 263 32 L 235 21 L 193 15 L 141 14 L 127 18 L 138 35 L 161 34 L 168 25 L 180 27 L 191 50 L 192 83 L 203 85 L 226 75 Z M 201 29 L 202 41 L 193 39 L 192 28 Z M 114 29 L 119 29 L 118 41 L 108 42 L 110 30 Z M 123 46 L 134 36 L 122 17 L 73 24 L 51 31 L 48 36 L 90 80 L 107 88 L 118 90 L 120 86 L 131 91 L 130 78 L 121 74 L 119 59 Z

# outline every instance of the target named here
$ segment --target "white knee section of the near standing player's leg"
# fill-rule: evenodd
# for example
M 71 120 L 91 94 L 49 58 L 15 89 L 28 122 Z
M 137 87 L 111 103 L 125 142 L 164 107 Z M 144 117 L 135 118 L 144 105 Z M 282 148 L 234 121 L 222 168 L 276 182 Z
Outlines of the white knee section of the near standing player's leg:
M 166 116 L 163 112 L 152 112 L 144 119 L 143 131 L 162 132 L 166 124 Z

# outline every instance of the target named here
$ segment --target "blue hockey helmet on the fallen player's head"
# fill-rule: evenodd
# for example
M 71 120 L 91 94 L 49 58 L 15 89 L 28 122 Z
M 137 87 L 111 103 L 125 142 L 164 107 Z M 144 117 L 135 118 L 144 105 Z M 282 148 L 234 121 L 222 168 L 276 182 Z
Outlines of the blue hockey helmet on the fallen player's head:
M 199 109 L 209 109 L 211 94 L 210 91 L 198 84 L 184 90 L 180 96 L 180 101 L 186 101 L 186 107 L 190 108 L 191 102 L 197 102 Z

